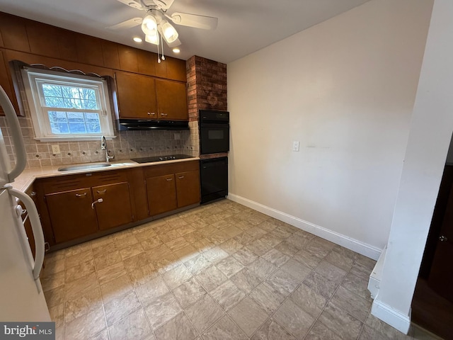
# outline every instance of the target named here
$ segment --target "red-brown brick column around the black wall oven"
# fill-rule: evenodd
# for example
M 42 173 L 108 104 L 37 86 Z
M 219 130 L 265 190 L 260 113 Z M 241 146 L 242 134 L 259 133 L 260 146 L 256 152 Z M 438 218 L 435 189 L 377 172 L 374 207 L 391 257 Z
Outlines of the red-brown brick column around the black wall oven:
M 190 126 L 190 145 L 194 156 L 200 154 L 198 134 L 198 110 L 227 110 L 226 104 L 226 64 L 214 62 L 194 55 L 185 63 L 188 84 L 188 112 Z M 226 154 L 216 154 L 216 157 Z M 205 155 L 202 158 L 210 158 Z

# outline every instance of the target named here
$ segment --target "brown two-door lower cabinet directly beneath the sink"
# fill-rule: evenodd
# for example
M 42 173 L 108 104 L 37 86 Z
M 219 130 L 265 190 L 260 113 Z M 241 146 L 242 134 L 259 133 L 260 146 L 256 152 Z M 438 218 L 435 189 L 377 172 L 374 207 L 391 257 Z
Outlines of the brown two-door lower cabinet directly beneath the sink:
M 127 171 L 59 176 L 36 183 L 41 221 L 45 234 L 53 236 L 51 245 L 134 221 Z

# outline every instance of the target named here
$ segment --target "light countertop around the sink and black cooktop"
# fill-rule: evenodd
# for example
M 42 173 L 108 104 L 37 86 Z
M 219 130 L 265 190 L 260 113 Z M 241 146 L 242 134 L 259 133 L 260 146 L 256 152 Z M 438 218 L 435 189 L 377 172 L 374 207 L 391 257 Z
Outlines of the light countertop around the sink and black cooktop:
M 139 166 L 155 166 L 161 164 L 171 164 L 171 163 L 178 163 L 178 162 L 188 162 L 188 161 L 195 161 L 199 160 L 199 157 L 191 157 L 191 158 L 184 158 L 184 159 L 173 159 L 171 161 L 161 161 L 161 162 L 151 162 L 151 163 L 137 163 L 132 161 L 131 159 L 120 159 L 117 161 L 110 162 L 111 166 L 105 166 L 102 168 L 95 168 L 95 169 L 84 169 L 84 170 L 75 170 L 75 171 L 58 171 L 59 168 L 65 166 L 74 166 L 74 165 L 81 165 L 81 164 L 67 164 L 67 165 L 59 165 L 59 166 L 45 166 L 43 168 L 28 168 L 25 169 L 20 176 L 16 178 L 11 185 L 13 188 L 16 188 L 20 191 L 26 191 L 35 179 L 43 179 L 46 177 L 55 177 L 55 176 L 67 176 L 73 174 L 84 174 L 87 172 L 99 172 L 99 171 L 109 171 L 113 169 L 128 169 L 128 168 L 135 168 Z M 93 162 L 93 163 L 86 163 L 86 164 L 96 164 L 96 163 L 104 163 L 104 162 Z

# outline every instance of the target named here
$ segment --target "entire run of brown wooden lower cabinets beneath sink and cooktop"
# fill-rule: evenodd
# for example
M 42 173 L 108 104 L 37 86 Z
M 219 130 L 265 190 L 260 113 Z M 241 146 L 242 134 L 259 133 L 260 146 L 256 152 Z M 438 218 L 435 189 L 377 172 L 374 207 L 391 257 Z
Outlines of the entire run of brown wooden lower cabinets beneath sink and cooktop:
M 200 203 L 200 165 L 55 176 L 37 179 L 34 188 L 46 240 L 55 246 Z

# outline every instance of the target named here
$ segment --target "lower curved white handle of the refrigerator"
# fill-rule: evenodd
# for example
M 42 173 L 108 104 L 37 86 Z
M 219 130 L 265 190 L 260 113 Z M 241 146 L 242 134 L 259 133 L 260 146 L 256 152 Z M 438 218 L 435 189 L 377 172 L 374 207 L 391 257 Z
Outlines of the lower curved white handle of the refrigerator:
M 36 209 L 35 202 L 26 193 L 14 189 L 11 185 L 4 186 L 8 190 L 11 196 L 17 197 L 25 205 L 25 209 L 28 211 L 28 218 L 30 219 L 31 228 L 33 230 L 33 237 L 35 238 L 35 263 L 33 264 L 33 278 L 36 281 L 38 290 L 41 290 L 39 282 L 40 272 L 42 263 L 44 263 L 45 254 L 45 242 L 44 233 L 42 232 L 42 226 L 38 210 Z

